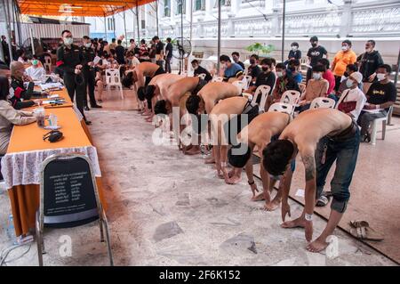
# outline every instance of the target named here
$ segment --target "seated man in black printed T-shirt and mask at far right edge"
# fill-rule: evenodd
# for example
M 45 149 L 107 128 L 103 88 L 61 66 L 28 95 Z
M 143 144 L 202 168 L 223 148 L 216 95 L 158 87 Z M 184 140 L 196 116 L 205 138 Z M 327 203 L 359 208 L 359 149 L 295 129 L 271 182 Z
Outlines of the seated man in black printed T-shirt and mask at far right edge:
M 378 82 L 372 83 L 366 94 L 367 102 L 364 111 L 358 118 L 358 124 L 361 126 L 361 138 L 364 142 L 371 141 L 371 122 L 376 118 L 385 118 L 388 115 L 389 108 L 396 101 L 396 85 L 390 82 L 389 75 L 392 69 L 388 64 L 382 64 L 376 70 Z M 368 110 L 379 110 L 378 112 L 369 112 Z

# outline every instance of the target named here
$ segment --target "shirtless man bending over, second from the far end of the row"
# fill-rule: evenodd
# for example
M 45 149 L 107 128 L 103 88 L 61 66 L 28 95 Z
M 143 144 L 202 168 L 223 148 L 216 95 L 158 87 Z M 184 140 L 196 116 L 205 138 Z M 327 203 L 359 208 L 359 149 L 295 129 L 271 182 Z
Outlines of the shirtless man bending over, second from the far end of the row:
M 180 81 L 183 76 L 178 74 L 164 73 L 157 75 L 151 79 L 144 90 L 144 99 L 148 102 L 149 108 L 151 108 L 150 116 L 147 118 L 148 122 L 153 121 L 154 107 L 158 96 L 164 98 L 168 93 L 170 85 Z M 143 99 L 140 97 L 140 99 Z M 141 101 L 141 100 L 140 100 Z M 143 100 L 144 101 L 144 100 Z

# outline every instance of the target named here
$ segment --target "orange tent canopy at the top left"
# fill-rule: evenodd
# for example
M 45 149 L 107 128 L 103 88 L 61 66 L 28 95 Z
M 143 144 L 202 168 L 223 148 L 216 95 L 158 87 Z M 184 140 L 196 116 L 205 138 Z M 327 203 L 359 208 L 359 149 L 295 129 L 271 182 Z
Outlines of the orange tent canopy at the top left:
M 21 14 L 103 17 L 156 0 L 18 0 Z

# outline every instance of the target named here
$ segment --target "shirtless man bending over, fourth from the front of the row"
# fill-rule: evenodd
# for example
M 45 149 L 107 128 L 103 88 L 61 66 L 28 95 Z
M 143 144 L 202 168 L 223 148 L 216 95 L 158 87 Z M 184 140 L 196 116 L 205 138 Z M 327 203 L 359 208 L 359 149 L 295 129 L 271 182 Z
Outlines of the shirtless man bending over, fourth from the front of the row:
M 200 115 L 209 114 L 218 101 L 239 95 L 239 90 L 235 85 L 225 82 L 212 82 L 204 85 L 197 94 L 192 93 L 186 101 L 186 109 L 188 113 L 194 114 L 198 118 L 197 134 L 201 134 L 202 126 L 200 125 Z M 198 152 L 199 145 L 192 147 L 192 151 Z M 214 159 L 206 160 L 206 163 L 213 163 Z

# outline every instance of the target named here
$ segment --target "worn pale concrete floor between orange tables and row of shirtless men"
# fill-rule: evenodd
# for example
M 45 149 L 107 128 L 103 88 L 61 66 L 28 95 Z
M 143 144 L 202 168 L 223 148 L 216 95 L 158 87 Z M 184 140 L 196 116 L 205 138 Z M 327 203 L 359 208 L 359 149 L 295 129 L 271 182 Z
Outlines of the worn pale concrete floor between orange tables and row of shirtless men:
M 87 116 L 100 156 L 116 265 L 394 265 L 340 230 L 335 231 L 339 256 L 308 253 L 304 232 L 280 228 L 279 210 L 265 212 L 262 202 L 252 202 L 245 179 L 227 185 L 200 156 L 184 156 L 176 146 L 153 145 L 155 128 L 136 111 L 105 108 Z M 299 215 L 302 207 L 291 204 L 292 214 Z M 4 249 L 11 245 L 4 191 L 0 208 Z M 316 235 L 325 224 L 316 217 Z M 60 256 L 63 235 L 72 239 L 72 256 Z M 44 264 L 107 265 L 106 247 L 99 239 L 95 224 L 48 231 Z M 28 247 L 15 249 L 8 259 Z M 36 264 L 36 243 L 7 263 Z

